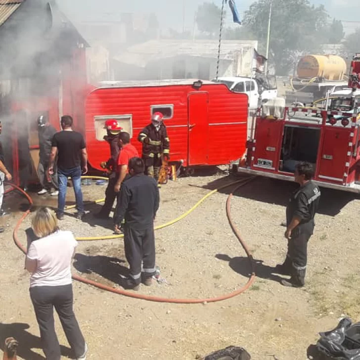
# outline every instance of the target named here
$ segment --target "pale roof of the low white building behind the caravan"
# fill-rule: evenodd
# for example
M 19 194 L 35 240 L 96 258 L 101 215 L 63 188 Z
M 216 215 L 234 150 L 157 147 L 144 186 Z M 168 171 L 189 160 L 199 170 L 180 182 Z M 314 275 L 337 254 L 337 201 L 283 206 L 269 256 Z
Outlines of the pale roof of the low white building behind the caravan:
M 221 59 L 233 59 L 234 54 L 241 52 L 242 48 L 257 49 L 257 41 L 222 42 Z M 145 67 L 153 60 L 160 60 L 174 56 L 195 56 L 216 58 L 218 56 L 219 42 L 217 40 L 151 40 L 146 43 L 130 46 L 124 53 L 114 57 L 115 60 Z

